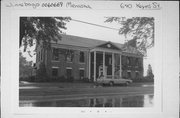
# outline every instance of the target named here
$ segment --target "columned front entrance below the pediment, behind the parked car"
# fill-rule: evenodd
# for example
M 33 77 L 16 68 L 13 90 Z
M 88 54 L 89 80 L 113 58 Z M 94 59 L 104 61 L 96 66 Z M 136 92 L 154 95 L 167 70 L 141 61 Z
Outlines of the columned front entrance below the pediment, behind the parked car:
M 120 76 L 120 54 L 110 52 L 90 53 L 90 78 L 94 81 L 100 76 Z

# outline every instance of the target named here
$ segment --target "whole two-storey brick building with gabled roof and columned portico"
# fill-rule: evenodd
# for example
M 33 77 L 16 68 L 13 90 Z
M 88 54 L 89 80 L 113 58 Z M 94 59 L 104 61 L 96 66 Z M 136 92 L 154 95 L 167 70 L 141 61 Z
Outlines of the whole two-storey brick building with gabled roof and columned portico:
M 37 71 L 44 65 L 49 79 L 74 77 L 96 80 L 100 75 L 136 79 L 143 76 L 143 55 L 132 47 L 110 41 L 62 35 L 51 49 L 37 45 Z

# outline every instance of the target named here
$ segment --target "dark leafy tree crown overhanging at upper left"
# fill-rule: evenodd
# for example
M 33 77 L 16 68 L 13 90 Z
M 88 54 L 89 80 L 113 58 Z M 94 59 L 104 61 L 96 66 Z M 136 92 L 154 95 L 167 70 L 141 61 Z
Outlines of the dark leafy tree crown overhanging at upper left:
M 57 42 L 61 39 L 59 34 L 66 29 L 66 22 L 70 17 L 21 17 L 20 18 L 20 39 L 19 46 L 33 46 L 34 41 L 39 44 L 41 41 L 45 48 L 50 47 L 51 40 Z

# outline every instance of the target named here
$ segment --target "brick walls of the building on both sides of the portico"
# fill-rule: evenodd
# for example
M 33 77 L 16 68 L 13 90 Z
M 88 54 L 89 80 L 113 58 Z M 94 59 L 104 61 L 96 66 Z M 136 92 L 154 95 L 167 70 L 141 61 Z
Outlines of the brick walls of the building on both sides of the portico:
M 37 47 L 37 53 L 39 52 L 43 53 L 43 59 L 37 60 L 37 67 L 41 63 L 45 64 L 46 67 L 46 74 L 48 78 L 52 78 L 52 67 L 58 67 L 58 77 L 60 76 L 66 76 L 66 68 L 71 67 L 72 68 L 72 76 L 74 79 L 78 80 L 79 77 L 79 71 L 80 68 L 84 68 L 84 76 L 88 77 L 89 72 L 89 50 L 85 47 L 77 47 L 77 46 L 70 46 L 70 45 L 59 45 L 59 44 L 53 44 L 52 48 L 59 48 L 59 49 L 69 49 L 73 50 L 74 57 L 72 62 L 67 62 L 65 59 L 64 54 L 59 54 L 59 60 L 54 61 L 52 60 L 52 49 L 46 49 L 42 50 L 41 46 Z M 79 54 L 80 51 L 84 52 L 85 62 L 80 63 L 79 62 Z M 130 63 L 127 63 L 127 58 L 130 58 Z M 136 66 L 136 59 L 138 58 L 139 64 Z M 127 78 L 128 77 L 128 71 L 131 71 L 131 79 L 136 78 L 136 71 L 139 72 L 139 77 L 143 77 L 143 58 L 137 57 L 137 56 L 122 56 L 122 77 Z

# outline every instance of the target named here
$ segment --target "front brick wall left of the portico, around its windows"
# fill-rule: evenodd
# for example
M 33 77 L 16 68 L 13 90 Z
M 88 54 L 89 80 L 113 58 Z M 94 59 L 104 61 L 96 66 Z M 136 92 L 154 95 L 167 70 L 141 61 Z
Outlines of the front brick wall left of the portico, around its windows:
M 57 46 L 55 46 L 55 48 L 58 48 Z M 72 49 L 74 52 L 74 57 L 72 62 L 67 62 L 65 59 L 65 54 L 59 54 L 59 60 L 58 61 L 54 61 L 52 60 L 52 49 L 51 50 L 47 50 L 47 53 L 45 57 L 47 57 L 46 59 L 46 70 L 47 70 L 47 74 L 49 76 L 49 78 L 52 78 L 52 67 L 59 67 L 58 69 L 58 77 L 60 76 L 66 76 L 66 68 L 70 67 L 72 68 L 72 76 L 74 77 L 75 80 L 80 79 L 79 77 L 79 70 L 80 68 L 84 68 L 84 75 L 85 77 L 88 77 L 88 50 L 85 48 L 77 48 L 77 47 L 73 47 L 71 46 L 70 48 L 68 48 L 68 46 L 63 47 L 63 46 L 59 46 L 59 48 L 63 48 L 63 49 Z M 79 62 L 79 54 L 80 51 L 84 52 L 84 63 L 80 63 Z

